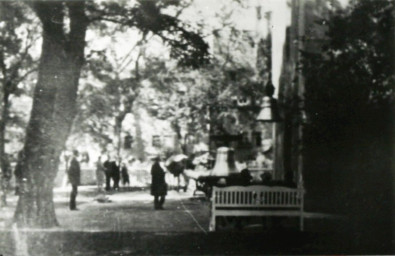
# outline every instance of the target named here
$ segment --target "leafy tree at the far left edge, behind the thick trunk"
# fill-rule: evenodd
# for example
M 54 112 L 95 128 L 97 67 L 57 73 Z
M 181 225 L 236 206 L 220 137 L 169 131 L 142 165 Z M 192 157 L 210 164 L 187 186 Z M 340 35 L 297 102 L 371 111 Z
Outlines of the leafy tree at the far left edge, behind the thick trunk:
M 29 15 L 30 14 L 30 15 Z M 11 96 L 23 94 L 23 83 L 29 75 L 37 71 L 31 55 L 31 48 L 37 39 L 37 25 L 31 11 L 20 3 L 0 2 L 0 81 L 1 81 L 1 120 L 0 120 L 0 166 L 3 178 L 9 179 L 11 172 L 6 157 L 6 126 L 10 119 Z M 8 169 L 8 171 L 6 170 Z M 1 179 L 1 177 L 0 177 Z M 5 189 L 6 186 L 2 186 Z M 6 191 L 3 191 L 4 201 Z

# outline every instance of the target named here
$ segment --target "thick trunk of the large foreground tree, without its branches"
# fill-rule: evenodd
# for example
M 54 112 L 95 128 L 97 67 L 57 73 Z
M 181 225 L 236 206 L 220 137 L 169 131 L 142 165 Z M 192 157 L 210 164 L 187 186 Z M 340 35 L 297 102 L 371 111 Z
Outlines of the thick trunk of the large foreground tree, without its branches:
M 33 2 L 43 25 L 43 44 L 33 108 L 17 172 L 23 186 L 14 220 L 19 226 L 56 226 L 53 185 L 60 153 L 71 129 L 83 64 L 87 20 L 83 2 L 67 2 L 66 35 L 58 1 Z

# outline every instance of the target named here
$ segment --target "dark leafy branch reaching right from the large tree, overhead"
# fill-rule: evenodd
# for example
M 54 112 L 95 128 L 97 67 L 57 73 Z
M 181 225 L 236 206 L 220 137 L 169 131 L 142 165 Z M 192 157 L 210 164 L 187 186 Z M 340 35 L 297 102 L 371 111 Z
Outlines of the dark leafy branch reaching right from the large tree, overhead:
M 136 27 L 144 34 L 149 32 L 159 36 L 171 48 L 171 56 L 185 66 L 198 67 L 209 62 L 208 44 L 198 32 L 181 24 L 176 17 L 163 14 L 155 1 L 138 1 L 133 8 L 122 8 L 119 4 L 107 4 L 104 9 L 93 7 L 97 14 L 92 20 L 110 21 L 129 27 Z M 180 15 L 181 11 L 177 12 Z M 185 29 L 184 27 L 188 27 Z M 170 34 L 171 36 L 168 36 Z M 172 38 L 173 37 L 173 38 Z

